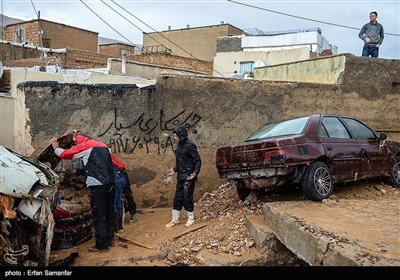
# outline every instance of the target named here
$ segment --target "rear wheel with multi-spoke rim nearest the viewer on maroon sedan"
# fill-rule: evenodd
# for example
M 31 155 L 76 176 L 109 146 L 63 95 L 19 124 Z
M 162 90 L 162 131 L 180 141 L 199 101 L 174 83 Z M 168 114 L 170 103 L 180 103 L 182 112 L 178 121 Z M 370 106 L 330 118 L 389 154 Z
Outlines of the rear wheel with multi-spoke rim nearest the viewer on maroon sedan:
M 320 161 L 312 163 L 301 180 L 301 188 L 308 199 L 321 201 L 333 191 L 332 175 Z

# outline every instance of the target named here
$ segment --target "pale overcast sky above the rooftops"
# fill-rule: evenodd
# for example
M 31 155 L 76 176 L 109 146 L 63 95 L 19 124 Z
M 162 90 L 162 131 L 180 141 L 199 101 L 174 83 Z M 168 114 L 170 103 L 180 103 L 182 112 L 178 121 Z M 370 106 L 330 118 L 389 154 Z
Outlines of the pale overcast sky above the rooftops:
M 0 0 L 0 13 L 22 20 L 40 18 L 142 44 L 142 32 L 217 25 L 264 32 L 320 28 L 339 53 L 361 55 L 361 27 L 378 12 L 385 30 L 380 58 L 400 59 L 400 0 L 209 1 L 209 0 Z

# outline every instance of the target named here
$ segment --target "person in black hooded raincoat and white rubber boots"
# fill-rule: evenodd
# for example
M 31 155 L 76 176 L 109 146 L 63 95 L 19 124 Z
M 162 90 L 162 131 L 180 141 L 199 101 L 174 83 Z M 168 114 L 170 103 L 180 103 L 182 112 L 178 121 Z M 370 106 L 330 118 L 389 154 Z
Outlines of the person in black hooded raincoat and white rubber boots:
M 193 192 L 201 168 L 201 159 L 196 144 L 188 138 L 186 128 L 177 126 L 172 131 L 174 141 L 178 144 L 175 150 L 175 166 L 169 176 L 177 174 L 177 183 L 172 206 L 172 220 L 165 226 L 173 227 L 179 223 L 182 208 L 187 212 L 185 224 L 190 227 L 194 223 Z

